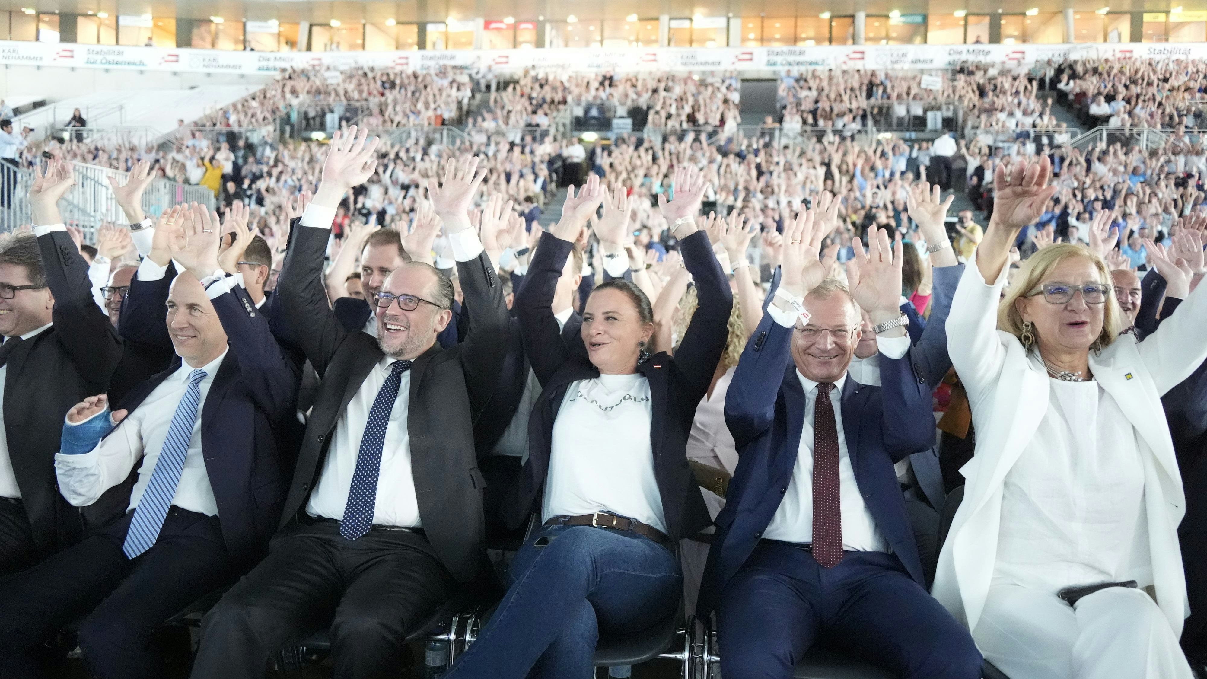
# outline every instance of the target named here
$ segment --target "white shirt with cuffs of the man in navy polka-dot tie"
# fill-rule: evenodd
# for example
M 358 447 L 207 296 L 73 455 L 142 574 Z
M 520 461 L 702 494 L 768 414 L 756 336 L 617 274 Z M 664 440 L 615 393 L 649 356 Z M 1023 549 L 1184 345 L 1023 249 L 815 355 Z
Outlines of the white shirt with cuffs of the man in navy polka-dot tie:
M 336 208 L 310 203 L 302 215 L 302 226 L 331 230 L 334 219 Z M 453 255 L 459 262 L 474 260 L 482 254 L 482 242 L 473 230 L 449 234 L 449 242 Z M 371 315 L 369 321 L 373 320 L 374 317 Z M 377 336 L 377 324 L 373 329 L 371 335 Z M 322 472 L 307 503 L 305 511 L 310 516 L 343 521 L 369 411 L 373 410 L 373 401 L 385 384 L 385 378 L 392 370 L 390 365 L 395 360 L 397 359 L 383 356 L 378 361 L 336 423 L 336 433 L 322 463 Z M 378 469 L 377 499 L 373 509 L 374 526 L 406 528 L 422 526 L 419 501 L 415 498 L 415 477 L 410 471 L 410 434 L 407 429 L 409 405 L 410 371 L 408 370 L 402 373 L 398 382 L 398 396 L 393 401 L 393 410 L 390 411 L 390 422 L 386 424 L 385 441 L 381 445 L 381 464 Z

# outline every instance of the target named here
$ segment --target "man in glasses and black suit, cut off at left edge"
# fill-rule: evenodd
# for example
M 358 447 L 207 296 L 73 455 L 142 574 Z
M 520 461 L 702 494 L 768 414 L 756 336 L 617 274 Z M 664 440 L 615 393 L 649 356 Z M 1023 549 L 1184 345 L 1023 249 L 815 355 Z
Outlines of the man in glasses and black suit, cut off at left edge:
M 36 239 L 0 244 L 0 575 L 83 534 L 80 510 L 54 487 L 58 431 L 71 406 L 105 390 L 122 352 L 57 207 L 70 166 L 46 173 L 30 190 Z

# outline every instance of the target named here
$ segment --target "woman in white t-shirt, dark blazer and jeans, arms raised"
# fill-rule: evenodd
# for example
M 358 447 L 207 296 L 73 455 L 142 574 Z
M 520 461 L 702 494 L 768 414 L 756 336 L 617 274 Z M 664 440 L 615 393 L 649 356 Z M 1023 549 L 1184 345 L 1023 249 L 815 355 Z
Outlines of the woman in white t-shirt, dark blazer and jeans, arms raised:
M 508 591 L 445 679 L 584 678 L 595 644 L 675 615 L 682 575 L 675 544 L 711 521 L 684 454 L 696 405 L 725 348 L 733 294 L 695 227 L 706 182 L 690 166 L 658 203 L 692 272 L 699 308 L 675 356 L 651 356 L 649 300 L 620 279 L 626 192 L 608 199 L 593 175 L 573 187 L 541 237 L 515 297 L 524 349 L 543 391 L 529 420 L 529 459 L 508 492 L 512 527 L 542 524 L 515 555 Z M 595 233 L 611 277 L 583 309 L 581 342 L 561 338 L 550 309 L 566 257 L 601 201 Z M 607 278 L 607 277 L 605 277 Z

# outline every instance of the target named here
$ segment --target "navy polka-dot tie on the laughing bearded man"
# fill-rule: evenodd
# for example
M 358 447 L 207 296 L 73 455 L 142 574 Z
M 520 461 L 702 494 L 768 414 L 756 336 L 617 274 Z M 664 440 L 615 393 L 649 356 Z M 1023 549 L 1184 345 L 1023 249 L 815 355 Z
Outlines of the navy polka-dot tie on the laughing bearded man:
M 348 504 L 344 505 L 344 521 L 339 524 L 339 534 L 348 540 L 355 540 L 369 532 L 373 526 L 373 510 L 377 507 L 377 480 L 381 470 L 381 446 L 385 443 L 385 428 L 390 424 L 393 402 L 398 400 L 398 384 L 402 373 L 410 370 L 410 361 L 390 364 L 390 376 L 373 399 L 369 420 L 365 424 L 361 436 L 361 449 L 356 455 L 356 471 L 352 472 L 352 484 L 348 489 Z

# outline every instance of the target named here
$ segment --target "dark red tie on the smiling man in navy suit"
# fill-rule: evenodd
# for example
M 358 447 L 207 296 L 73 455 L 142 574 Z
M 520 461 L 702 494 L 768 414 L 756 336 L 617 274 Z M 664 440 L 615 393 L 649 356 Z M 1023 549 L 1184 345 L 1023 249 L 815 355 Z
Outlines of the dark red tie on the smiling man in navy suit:
M 822 568 L 842 561 L 842 510 L 838 486 L 838 425 L 829 393 L 833 382 L 817 384 L 814 404 L 814 559 Z

